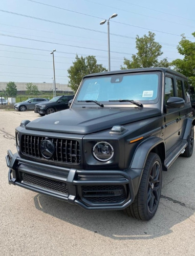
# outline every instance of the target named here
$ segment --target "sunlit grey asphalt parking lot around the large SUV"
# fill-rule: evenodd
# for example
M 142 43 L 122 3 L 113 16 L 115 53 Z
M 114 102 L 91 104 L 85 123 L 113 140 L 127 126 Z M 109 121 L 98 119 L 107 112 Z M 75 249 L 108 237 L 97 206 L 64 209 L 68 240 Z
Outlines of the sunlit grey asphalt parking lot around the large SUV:
M 0 255 L 195 255 L 195 148 L 163 172 L 157 214 L 143 222 L 9 185 L 5 156 L 16 152 L 14 129 L 41 117 L 6 110 L 0 117 Z

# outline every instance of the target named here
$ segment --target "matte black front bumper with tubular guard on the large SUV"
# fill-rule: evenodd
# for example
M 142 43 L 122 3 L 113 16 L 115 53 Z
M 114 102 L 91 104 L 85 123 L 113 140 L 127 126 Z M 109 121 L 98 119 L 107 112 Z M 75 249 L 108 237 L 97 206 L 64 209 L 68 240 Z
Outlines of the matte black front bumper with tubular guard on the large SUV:
M 132 204 L 134 188 L 142 173 L 142 170 L 63 168 L 22 159 L 11 151 L 8 151 L 6 161 L 9 184 L 89 210 L 121 210 Z

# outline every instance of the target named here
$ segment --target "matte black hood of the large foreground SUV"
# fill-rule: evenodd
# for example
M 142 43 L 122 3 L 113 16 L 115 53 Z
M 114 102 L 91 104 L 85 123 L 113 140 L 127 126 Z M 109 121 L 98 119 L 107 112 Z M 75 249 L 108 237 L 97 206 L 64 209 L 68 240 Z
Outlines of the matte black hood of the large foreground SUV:
M 158 109 L 151 108 L 75 108 L 40 117 L 28 123 L 26 129 L 90 134 L 160 115 Z

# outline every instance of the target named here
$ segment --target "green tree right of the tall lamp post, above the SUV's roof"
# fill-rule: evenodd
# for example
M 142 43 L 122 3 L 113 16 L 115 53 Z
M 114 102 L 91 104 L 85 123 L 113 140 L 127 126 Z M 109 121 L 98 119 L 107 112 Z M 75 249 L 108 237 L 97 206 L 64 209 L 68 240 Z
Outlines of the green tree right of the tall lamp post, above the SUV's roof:
M 121 69 L 137 69 L 150 67 L 169 67 L 168 60 L 164 58 L 158 61 L 158 57 L 163 54 L 162 46 L 155 41 L 155 33 L 148 32 L 148 36 L 136 36 L 137 53 L 132 55 L 132 60 L 124 58 L 124 65 Z

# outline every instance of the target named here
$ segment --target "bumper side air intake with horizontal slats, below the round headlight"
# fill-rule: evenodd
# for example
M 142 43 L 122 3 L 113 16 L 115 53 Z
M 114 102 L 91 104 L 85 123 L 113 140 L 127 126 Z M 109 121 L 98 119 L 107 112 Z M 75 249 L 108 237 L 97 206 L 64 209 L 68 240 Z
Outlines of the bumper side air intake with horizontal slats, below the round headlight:
M 119 203 L 126 198 L 122 185 L 82 186 L 82 195 L 91 203 Z

